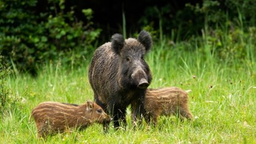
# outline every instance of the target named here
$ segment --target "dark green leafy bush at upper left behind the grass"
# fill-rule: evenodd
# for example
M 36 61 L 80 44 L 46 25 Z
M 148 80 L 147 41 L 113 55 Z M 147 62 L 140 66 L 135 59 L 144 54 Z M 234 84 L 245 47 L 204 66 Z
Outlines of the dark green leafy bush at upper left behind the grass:
M 82 58 L 92 52 L 101 32 L 92 28 L 92 9 L 83 9 L 86 21 L 75 18 L 64 0 L 50 0 L 47 12 L 37 11 L 37 0 L 0 1 L 0 53 L 18 70 L 36 74 L 37 66 L 51 60 Z M 72 53 L 79 52 L 75 57 Z

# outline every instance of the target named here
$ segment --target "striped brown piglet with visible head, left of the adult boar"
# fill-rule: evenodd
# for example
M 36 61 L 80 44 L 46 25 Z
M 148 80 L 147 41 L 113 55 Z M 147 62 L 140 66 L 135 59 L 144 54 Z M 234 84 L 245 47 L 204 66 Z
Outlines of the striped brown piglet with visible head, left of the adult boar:
M 111 121 L 101 106 L 92 101 L 81 105 L 42 102 L 33 109 L 29 119 L 32 117 L 35 119 L 39 138 L 63 133 L 70 128 L 83 130 L 93 123 L 106 126 Z

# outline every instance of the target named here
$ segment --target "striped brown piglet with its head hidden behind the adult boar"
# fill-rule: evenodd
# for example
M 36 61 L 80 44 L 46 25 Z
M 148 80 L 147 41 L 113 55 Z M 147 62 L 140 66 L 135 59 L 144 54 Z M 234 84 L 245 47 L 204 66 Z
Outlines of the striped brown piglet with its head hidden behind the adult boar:
M 148 124 L 152 121 L 156 125 L 159 115 L 178 114 L 180 118 L 193 118 L 188 109 L 188 91 L 183 91 L 178 87 L 147 89 L 144 108 L 144 118 Z

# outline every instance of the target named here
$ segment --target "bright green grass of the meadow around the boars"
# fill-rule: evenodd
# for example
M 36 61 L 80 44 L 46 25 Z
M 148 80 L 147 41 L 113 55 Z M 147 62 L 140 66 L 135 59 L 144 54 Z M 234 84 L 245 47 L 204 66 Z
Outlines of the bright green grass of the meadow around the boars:
M 188 46 L 190 47 L 190 46 Z M 143 123 L 131 128 L 127 114 L 126 130 L 103 133 L 101 125 L 84 131 L 37 139 L 32 109 L 43 101 L 81 104 L 93 100 L 87 78 L 89 61 L 77 69 L 58 64 L 43 67 L 37 78 L 15 75 L 8 86 L 23 97 L 18 108 L 3 115 L 1 143 L 256 143 L 256 64 L 250 53 L 246 60 L 221 62 L 214 53 L 197 48 L 194 52 L 168 45 L 154 45 L 147 55 L 153 80 L 150 87 L 177 86 L 191 89 L 190 111 L 195 119 L 181 122 L 175 116 L 161 116 L 156 128 Z M 248 54 L 249 55 L 249 54 Z M 253 60 L 254 58 L 254 60 Z M 90 58 L 89 58 L 90 59 Z M 195 78 L 193 76 L 195 75 Z M 128 111 L 129 112 L 129 111 Z

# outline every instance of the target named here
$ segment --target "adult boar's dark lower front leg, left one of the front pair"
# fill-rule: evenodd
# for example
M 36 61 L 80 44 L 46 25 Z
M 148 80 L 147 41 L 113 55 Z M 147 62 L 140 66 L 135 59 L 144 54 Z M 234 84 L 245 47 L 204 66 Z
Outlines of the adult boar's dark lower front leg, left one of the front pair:
M 120 123 L 123 123 L 124 126 L 127 125 L 126 119 L 125 119 L 125 114 L 126 114 L 125 108 L 114 107 L 114 109 L 113 109 L 114 128 L 119 128 Z

